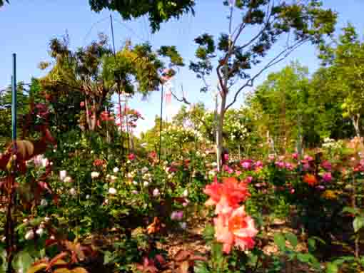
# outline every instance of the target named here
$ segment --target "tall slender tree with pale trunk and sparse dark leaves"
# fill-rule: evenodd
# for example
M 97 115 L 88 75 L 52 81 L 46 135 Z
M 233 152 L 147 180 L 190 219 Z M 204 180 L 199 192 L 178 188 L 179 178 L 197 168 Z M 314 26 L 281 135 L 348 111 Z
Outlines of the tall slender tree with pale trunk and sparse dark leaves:
M 213 72 L 213 64 L 218 76 L 218 90 L 221 107 L 218 118 L 218 161 L 221 162 L 223 148 L 223 120 L 226 110 L 238 100 L 238 96 L 253 86 L 256 78 L 268 68 L 283 61 L 296 48 L 305 43 L 323 43 L 325 35 L 333 34 L 336 14 L 323 9 L 318 0 L 273 1 L 273 0 L 229 0 L 228 31 L 221 34 L 216 42 L 211 34 L 198 36 L 197 61 L 190 68 L 198 78 L 205 80 Z M 233 27 L 233 11 L 238 9 L 241 18 Z M 243 41 L 245 32 L 251 35 Z M 285 36 L 282 43 L 280 38 Z M 268 55 L 278 44 L 278 53 L 272 58 Z M 274 52 L 274 51 L 273 51 Z M 253 69 L 254 68 L 254 69 Z M 206 82 L 206 81 L 205 81 Z M 207 88 L 203 88 L 206 91 Z M 228 101 L 228 96 L 233 95 Z

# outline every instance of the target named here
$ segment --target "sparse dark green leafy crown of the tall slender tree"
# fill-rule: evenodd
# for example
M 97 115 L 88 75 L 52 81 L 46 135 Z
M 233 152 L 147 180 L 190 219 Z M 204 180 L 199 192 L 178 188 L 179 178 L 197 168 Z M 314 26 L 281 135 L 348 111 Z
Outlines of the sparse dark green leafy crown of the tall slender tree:
M 238 25 L 231 41 L 228 34 L 221 34 L 217 47 L 210 34 L 203 34 L 195 39 L 198 44 L 196 50 L 198 61 L 191 62 L 190 68 L 198 78 L 211 73 L 213 59 L 217 57 L 220 87 L 227 93 L 229 89 L 227 83 L 237 79 L 248 79 L 246 83 L 248 86 L 260 75 L 260 73 L 256 76 L 251 75 L 249 70 L 266 59 L 268 51 L 283 34 L 289 32 L 293 34 L 292 44 L 285 48 L 283 53 L 290 53 L 296 46 L 306 41 L 322 43 L 325 34 L 333 34 L 336 14 L 331 10 L 322 9 L 319 1 L 313 0 L 305 4 L 284 2 L 275 6 L 270 4 L 270 1 L 236 1 L 235 8 L 242 13 L 242 23 Z M 261 26 L 256 36 L 253 35 L 251 41 L 246 44 L 239 44 L 238 38 L 242 35 L 243 29 L 256 26 Z M 268 62 L 264 70 L 273 65 L 279 57 Z

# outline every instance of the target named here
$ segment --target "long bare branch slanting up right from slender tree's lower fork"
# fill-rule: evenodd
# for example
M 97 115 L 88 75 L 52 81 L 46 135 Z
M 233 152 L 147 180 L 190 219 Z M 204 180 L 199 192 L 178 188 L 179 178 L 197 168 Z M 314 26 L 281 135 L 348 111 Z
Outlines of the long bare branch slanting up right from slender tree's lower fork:
M 239 88 L 239 90 L 235 93 L 233 101 L 226 106 L 225 110 L 228 110 L 228 108 L 230 108 L 231 105 L 236 103 L 236 101 L 238 99 L 238 96 L 241 93 L 241 91 L 243 91 L 243 89 L 246 88 L 246 87 L 252 87 L 254 81 L 256 80 L 256 78 L 261 76 L 261 74 L 264 71 L 266 71 L 268 68 L 271 68 L 271 66 L 274 66 L 275 64 L 279 63 L 280 61 L 283 61 L 285 58 L 287 58 L 290 55 L 290 53 L 295 51 L 296 48 L 303 45 L 303 43 L 305 43 L 307 41 L 308 41 L 308 38 L 304 38 L 304 39 L 302 39 L 300 41 L 297 41 L 292 46 L 288 46 L 283 51 L 280 51 L 280 53 L 277 56 L 275 56 L 274 58 L 272 58 L 271 61 L 269 61 L 266 64 L 266 66 L 264 66 L 258 73 L 256 73 L 255 76 L 253 76 L 252 78 L 249 78 L 248 81 L 246 81 L 246 83 L 243 86 L 241 86 L 241 88 Z

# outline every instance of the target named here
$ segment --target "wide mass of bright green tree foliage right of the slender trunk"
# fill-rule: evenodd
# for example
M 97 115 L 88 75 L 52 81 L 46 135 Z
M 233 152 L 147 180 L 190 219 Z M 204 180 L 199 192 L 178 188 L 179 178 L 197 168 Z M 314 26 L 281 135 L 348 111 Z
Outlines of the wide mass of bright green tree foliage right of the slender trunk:
M 305 147 L 318 145 L 325 138 L 353 136 L 350 120 L 343 118 L 343 93 L 328 88 L 330 77 L 320 69 L 312 78 L 308 70 L 292 63 L 271 73 L 248 98 L 258 113 L 260 134 L 269 132 L 275 148 L 295 147 L 301 136 Z

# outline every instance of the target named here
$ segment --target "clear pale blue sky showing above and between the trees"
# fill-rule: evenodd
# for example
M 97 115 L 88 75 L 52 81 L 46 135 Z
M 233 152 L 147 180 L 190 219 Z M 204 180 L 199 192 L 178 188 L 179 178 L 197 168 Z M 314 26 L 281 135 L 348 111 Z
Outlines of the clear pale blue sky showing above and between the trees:
M 103 32 L 111 36 L 109 11 L 94 13 L 89 8 L 88 0 L 11 0 L 10 5 L 0 9 L 0 89 L 11 83 L 11 54 L 18 58 L 18 80 L 29 82 L 31 76 L 43 76 L 44 72 L 37 68 L 40 61 L 50 60 L 48 56 L 49 40 L 60 37 L 68 32 L 71 47 L 86 46 L 95 40 L 97 34 Z M 338 11 L 338 29 L 346 22 L 353 23 L 363 36 L 364 30 L 364 1 L 363 0 L 323 0 L 325 7 Z M 130 38 L 133 43 L 150 41 L 153 47 L 161 45 L 176 45 L 181 56 L 188 64 L 193 59 L 196 46 L 193 38 L 208 32 L 218 35 L 228 28 L 228 9 L 222 0 L 196 1 L 196 16 L 183 16 L 179 21 L 171 20 L 161 26 L 161 31 L 151 34 L 146 18 L 135 21 L 122 21 L 117 13 L 113 13 L 116 47 L 123 46 L 123 42 Z M 234 14 L 238 19 L 238 13 Z M 250 32 L 243 34 L 242 39 L 248 39 Z M 273 52 L 274 53 L 274 52 Z M 312 73 L 318 67 L 315 48 L 302 46 L 286 61 L 275 66 L 271 71 L 277 71 L 290 61 L 298 60 L 308 66 Z M 261 83 L 266 75 L 262 75 L 256 83 Z M 216 78 L 209 79 L 216 83 Z M 201 81 L 198 80 L 188 66 L 181 68 L 173 81 L 174 91 L 179 93 L 180 86 L 192 102 L 203 101 L 208 107 L 213 105 L 211 94 L 199 93 Z M 146 130 L 153 126 L 155 115 L 159 113 L 160 93 L 154 92 L 145 101 L 139 96 L 131 100 L 131 107 L 139 110 L 144 116 L 137 131 Z M 240 97 L 236 107 L 243 103 Z M 173 115 L 181 107 L 181 103 L 172 101 L 168 108 L 168 115 Z

